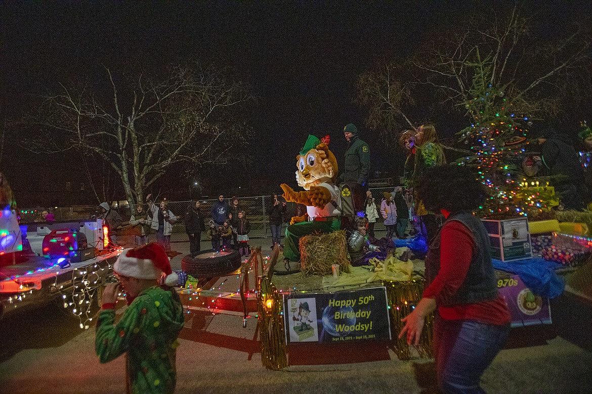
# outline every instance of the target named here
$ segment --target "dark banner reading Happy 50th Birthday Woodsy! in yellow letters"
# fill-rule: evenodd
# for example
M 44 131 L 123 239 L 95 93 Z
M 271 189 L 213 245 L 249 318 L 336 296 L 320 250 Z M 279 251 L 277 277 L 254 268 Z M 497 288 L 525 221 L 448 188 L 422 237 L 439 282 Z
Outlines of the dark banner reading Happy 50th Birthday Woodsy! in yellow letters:
M 384 287 L 284 294 L 286 343 L 390 340 Z

